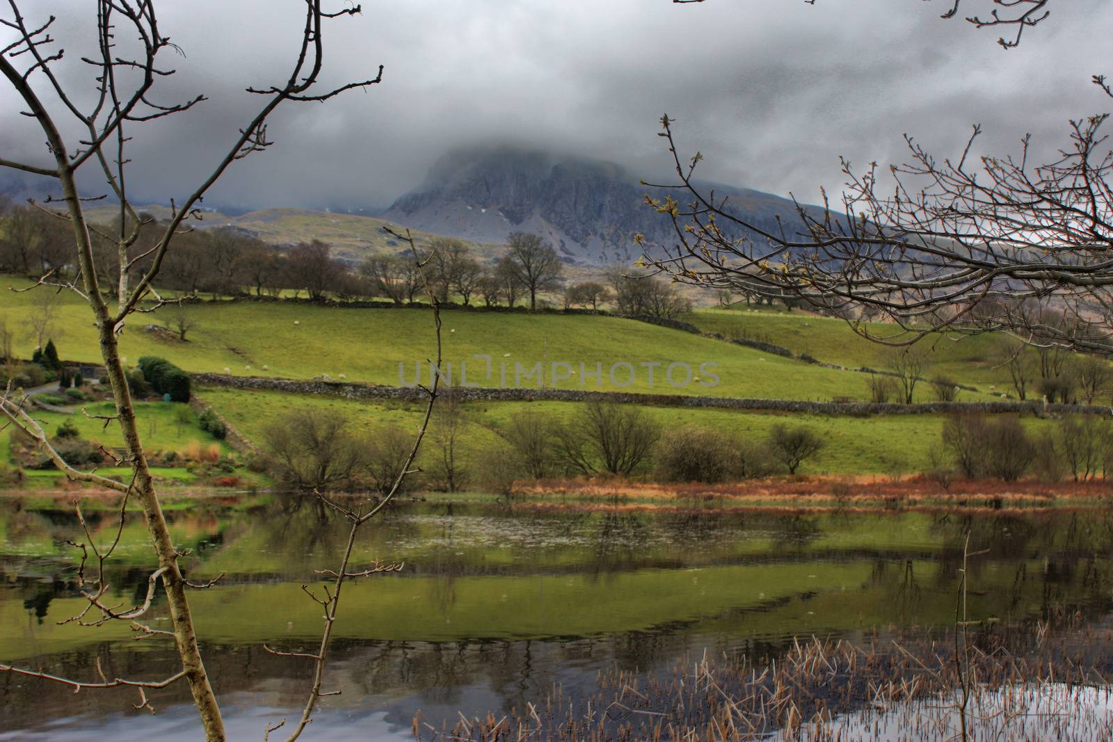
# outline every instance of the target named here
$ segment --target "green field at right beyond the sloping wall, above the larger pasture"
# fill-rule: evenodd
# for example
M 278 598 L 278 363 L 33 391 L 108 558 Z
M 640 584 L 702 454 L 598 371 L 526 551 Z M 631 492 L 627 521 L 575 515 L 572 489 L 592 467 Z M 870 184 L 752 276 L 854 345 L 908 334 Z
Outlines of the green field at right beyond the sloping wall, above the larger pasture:
M 819 360 L 841 366 L 885 368 L 885 345 L 867 340 L 841 319 L 815 317 L 805 314 L 770 313 L 747 309 L 699 309 L 683 318 L 705 333 L 719 333 L 731 338 L 749 338 L 772 343 L 807 353 Z M 895 325 L 869 324 L 869 332 L 885 338 L 902 337 Z M 976 386 L 983 392 L 995 386 L 998 392 L 1011 392 L 1008 369 L 996 358 L 999 335 L 974 336 L 940 335 L 922 340 L 932 348 L 928 377 L 935 374 Z

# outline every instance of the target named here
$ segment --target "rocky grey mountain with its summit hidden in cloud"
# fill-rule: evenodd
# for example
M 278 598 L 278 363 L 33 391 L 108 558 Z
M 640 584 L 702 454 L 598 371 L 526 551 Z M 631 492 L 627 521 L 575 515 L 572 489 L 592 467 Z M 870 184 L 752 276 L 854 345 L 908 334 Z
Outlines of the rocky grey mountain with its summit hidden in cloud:
M 729 196 L 732 210 L 761 228 L 799 225 L 792 201 L 747 188 L 702 184 Z M 570 263 L 628 263 L 641 254 L 633 237 L 668 241 L 671 221 L 644 204 L 649 192 L 620 166 L 509 148 L 450 152 L 424 184 L 381 216 L 429 233 L 504 243 L 512 231 L 543 236 Z M 682 199 L 681 199 L 682 200 Z

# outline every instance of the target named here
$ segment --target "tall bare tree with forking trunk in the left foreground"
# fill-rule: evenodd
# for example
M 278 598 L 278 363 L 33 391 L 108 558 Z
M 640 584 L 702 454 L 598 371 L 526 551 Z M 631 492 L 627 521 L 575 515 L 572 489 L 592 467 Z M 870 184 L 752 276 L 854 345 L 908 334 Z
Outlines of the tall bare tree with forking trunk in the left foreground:
M 13 33 L 16 40 L 0 49 L 0 75 L 11 86 L 14 97 L 21 101 L 21 106 L 26 109 L 22 112 L 41 130 L 47 141 L 49 161 L 18 162 L 0 159 L 0 166 L 49 178 L 61 190 L 60 198 L 48 199 L 43 207 L 67 224 L 72 231 L 67 261 L 76 266 L 76 278 L 62 280 L 62 271 L 53 270 L 40 278 L 40 284 L 62 287 L 89 305 L 97 327 L 106 378 L 115 400 L 117 414 L 114 419 L 120 426 L 126 449 L 125 462 L 131 468 L 131 476 L 121 483 L 67 464 L 51 447 L 42 427 L 10 394 L 0 398 L 0 410 L 24 433 L 32 436 L 69 478 L 95 483 L 121 493 L 125 503 L 120 509 L 121 530 L 128 501 L 138 501 L 158 561 L 158 568 L 150 575 L 148 597 L 145 603 L 129 611 L 121 612 L 118 607 L 106 605 L 101 602 L 101 597 L 108 590 L 108 582 L 101 574 L 99 583 L 80 581 L 81 587 L 86 588 L 85 597 L 88 601 L 82 615 L 92 612 L 101 623 L 110 620 L 130 621 L 134 622 L 134 626 L 150 635 L 173 636 L 180 661 L 180 671 L 157 681 L 108 679 L 105 675 L 92 681 L 77 681 L 10 665 L 0 665 L 0 671 L 61 683 L 75 690 L 136 687 L 144 706 L 148 705 L 144 689 L 166 687 L 185 680 L 204 726 L 205 739 L 218 742 L 226 738 L 224 722 L 198 649 L 187 597 L 188 584 L 178 563 L 180 552 L 175 547 L 162 515 L 161 503 L 136 425 L 135 407 L 120 360 L 118 336 L 124 330 L 126 319 L 139 308 L 140 303 L 154 298 L 157 307 L 158 295 L 154 281 L 158 270 L 175 236 L 185 226 L 185 220 L 197 215 L 195 209 L 208 189 L 233 162 L 263 151 L 270 145 L 266 135 L 266 121 L 270 113 L 286 102 L 324 101 L 344 90 L 365 88 L 378 82 L 382 68 L 378 77 L 373 79 L 321 91 L 316 83 L 323 65 L 324 27 L 329 19 L 355 14 L 359 12 L 359 8 L 349 6 L 331 12 L 322 10 L 321 0 L 306 0 L 303 34 L 295 49 L 295 63 L 289 77 L 275 86 L 249 89 L 249 92 L 259 96 L 263 101 L 258 112 L 232 138 L 232 146 L 196 189 L 185 198 L 173 201 L 171 218 L 165 225 L 154 227 L 149 219 L 141 219 L 136 214 L 128 198 L 126 168 L 130 160 L 125 155 L 126 145 L 131 139 L 134 129 L 142 122 L 180 113 L 200 103 L 205 98 L 197 96 L 179 102 L 157 100 L 156 82 L 173 72 L 162 63 L 166 56 L 164 52 L 169 50 L 173 53 L 176 47 L 162 32 L 154 0 L 98 0 L 96 3 L 89 3 L 89 8 L 96 12 L 96 43 L 90 44 L 95 46 L 96 51 L 80 59 L 80 65 L 83 69 L 89 67 L 92 69 L 91 96 L 87 95 L 87 90 L 71 90 L 63 85 L 72 77 L 68 72 L 63 73 L 62 50 L 53 46 L 56 42 L 51 33 L 55 30 L 52 28 L 55 18 L 29 21 L 23 16 L 20 3 L 17 0 L 10 1 L 10 13 L 0 21 Z M 91 103 L 85 108 L 87 100 L 91 100 Z M 70 132 L 76 132 L 72 140 Z M 85 210 L 87 197 L 78 185 L 78 172 L 83 171 L 87 166 L 99 174 L 108 191 L 119 202 L 121 217 L 119 233 L 102 234 L 106 239 L 115 243 L 119 254 L 118 271 L 109 277 L 102 277 L 97 273 L 91 234 L 98 228 L 87 218 Z M 53 210 L 50 206 L 56 202 L 60 205 L 59 210 Z M 157 236 L 151 240 L 152 247 L 142 255 L 142 261 L 139 261 L 129 254 L 129 248 L 136 244 L 142 229 L 148 226 L 157 230 Z M 109 280 L 111 284 L 102 283 Z M 91 538 L 89 546 L 102 565 L 104 557 L 110 554 L 115 544 L 107 550 L 107 553 L 100 551 Z M 171 631 L 150 629 L 139 622 L 150 606 L 159 583 L 166 593 Z M 315 695 L 311 694 L 311 700 L 313 703 L 308 705 L 305 716 L 312 713 Z M 293 738 L 301 733 L 304 721 Z

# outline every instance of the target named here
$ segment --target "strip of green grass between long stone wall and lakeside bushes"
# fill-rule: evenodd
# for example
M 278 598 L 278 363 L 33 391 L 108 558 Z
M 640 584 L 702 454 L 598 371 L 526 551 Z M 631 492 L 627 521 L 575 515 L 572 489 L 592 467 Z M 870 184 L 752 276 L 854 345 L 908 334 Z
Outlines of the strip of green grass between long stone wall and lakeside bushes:
M 237 392 L 204 389 L 203 397 L 213 404 L 228 422 L 256 441 L 269 425 L 278 424 L 292 408 L 334 409 L 343 413 L 353 427 L 366 435 L 386 425 L 416 431 L 424 406 L 417 403 L 352 402 L 336 397 L 289 395 L 276 392 Z M 522 402 L 474 403 L 463 406 L 469 429 L 463 436 L 464 458 L 493 444 L 495 428 L 505 425 L 516 412 L 533 409 L 553 419 L 567 419 L 579 408 L 578 403 Z M 939 442 L 943 419 L 936 415 L 892 415 L 880 417 L 831 417 L 823 415 L 785 415 L 729 409 L 689 409 L 646 407 L 647 414 L 662 426 L 703 425 L 727 431 L 742 438 L 761 439 L 778 423 L 812 427 L 827 445 L 802 473 L 869 474 L 914 473 L 928 467 L 930 448 Z M 1026 418 L 1031 429 L 1042 429 L 1047 421 Z M 435 434 L 435 422 L 431 433 Z M 432 455 L 427 445 L 424 454 Z

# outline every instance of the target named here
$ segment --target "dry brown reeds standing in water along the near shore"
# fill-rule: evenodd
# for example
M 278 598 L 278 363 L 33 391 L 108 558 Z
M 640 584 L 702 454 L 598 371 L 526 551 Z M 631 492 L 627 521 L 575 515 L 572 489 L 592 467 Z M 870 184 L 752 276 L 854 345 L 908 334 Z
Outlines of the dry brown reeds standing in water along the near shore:
M 418 711 L 411 734 L 429 742 L 1109 739 L 1109 637 L 1076 629 L 1070 619 L 1050 621 L 1034 646 L 1011 627 L 983 624 L 976 649 L 957 625 L 798 639 L 779 656 L 705 650 L 656 673 L 601 672 L 593 693 L 554 684 L 509 713 L 461 712 L 434 726 Z

